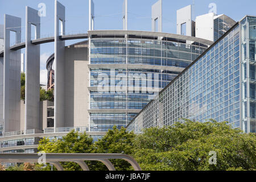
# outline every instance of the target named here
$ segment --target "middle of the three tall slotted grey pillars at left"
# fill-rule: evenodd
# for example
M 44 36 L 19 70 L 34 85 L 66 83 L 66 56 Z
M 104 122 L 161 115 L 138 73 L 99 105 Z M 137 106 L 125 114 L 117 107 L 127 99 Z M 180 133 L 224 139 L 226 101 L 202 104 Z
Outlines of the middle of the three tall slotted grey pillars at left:
M 40 38 L 38 10 L 26 6 L 26 83 L 25 83 L 25 129 L 40 129 L 40 45 L 31 43 L 31 26 L 36 26 L 36 39 Z

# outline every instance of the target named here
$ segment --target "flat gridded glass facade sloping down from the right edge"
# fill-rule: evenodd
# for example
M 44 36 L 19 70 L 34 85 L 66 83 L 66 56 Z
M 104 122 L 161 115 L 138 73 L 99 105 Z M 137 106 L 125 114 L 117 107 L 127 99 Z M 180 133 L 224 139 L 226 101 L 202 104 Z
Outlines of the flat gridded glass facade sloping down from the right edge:
M 177 76 L 127 125 L 142 132 L 182 122 L 228 121 L 256 131 L 256 18 L 246 16 Z

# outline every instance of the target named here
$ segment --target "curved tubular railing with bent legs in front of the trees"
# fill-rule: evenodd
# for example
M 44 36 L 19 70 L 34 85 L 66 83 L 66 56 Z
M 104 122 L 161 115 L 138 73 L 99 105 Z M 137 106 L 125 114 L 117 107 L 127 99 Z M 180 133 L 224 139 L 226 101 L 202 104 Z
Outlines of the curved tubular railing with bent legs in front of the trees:
M 0 154 L 0 163 L 38 163 L 40 155 L 38 154 Z M 60 162 L 75 162 L 81 166 L 84 171 L 89 171 L 85 160 L 97 160 L 105 164 L 109 171 L 115 171 L 115 167 L 109 159 L 123 159 L 133 166 L 135 171 L 141 171 L 137 161 L 125 154 L 44 154 L 46 163 L 50 163 L 58 171 L 64 171 Z

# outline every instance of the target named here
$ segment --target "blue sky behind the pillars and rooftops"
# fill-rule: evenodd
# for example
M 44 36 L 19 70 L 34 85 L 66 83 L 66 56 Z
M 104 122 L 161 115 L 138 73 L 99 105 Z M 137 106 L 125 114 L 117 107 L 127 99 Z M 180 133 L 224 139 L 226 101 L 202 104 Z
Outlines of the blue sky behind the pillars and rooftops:
M 157 0 L 128 0 L 128 29 L 151 30 L 151 6 Z M 163 32 L 176 33 L 176 10 L 191 5 L 193 0 L 162 0 L 163 1 Z M 25 37 L 25 7 L 39 10 L 39 3 L 46 4 L 46 17 L 41 19 L 41 35 L 54 33 L 54 0 L 0 0 L 0 24 L 3 15 L 10 14 L 22 18 L 22 39 Z M 66 7 L 66 32 L 88 30 L 88 0 L 59 0 Z M 255 0 L 194 0 L 195 13 L 207 14 L 209 4 L 216 3 L 217 14 L 226 14 L 238 21 L 245 15 L 256 15 Z M 96 30 L 122 29 L 123 0 L 94 0 Z M 67 41 L 66 46 L 76 41 Z M 41 46 L 41 77 L 46 82 L 46 59 L 54 51 L 53 43 Z M 22 50 L 24 52 L 24 50 Z

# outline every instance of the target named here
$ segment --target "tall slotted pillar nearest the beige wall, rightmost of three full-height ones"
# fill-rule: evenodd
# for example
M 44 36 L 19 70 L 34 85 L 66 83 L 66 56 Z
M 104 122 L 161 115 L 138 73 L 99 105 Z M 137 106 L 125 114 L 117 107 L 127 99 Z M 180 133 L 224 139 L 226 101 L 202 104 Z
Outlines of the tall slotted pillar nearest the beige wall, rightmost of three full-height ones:
M 60 30 L 60 21 L 62 30 Z M 65 125 L 65 6 L 55 0 L 55 90 L 54 90 L 54 131 Z

